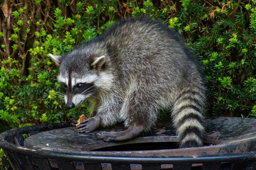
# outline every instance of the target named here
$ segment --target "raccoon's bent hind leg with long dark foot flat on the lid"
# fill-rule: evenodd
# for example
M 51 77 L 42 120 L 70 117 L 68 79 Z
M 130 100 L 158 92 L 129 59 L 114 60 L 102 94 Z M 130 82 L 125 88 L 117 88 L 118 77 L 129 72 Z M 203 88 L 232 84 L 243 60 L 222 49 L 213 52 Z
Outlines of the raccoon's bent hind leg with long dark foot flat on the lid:
M 151 125 L 155 123 L 156 111 L 148 103 L 146 92 L 130 93 L 124 101 L 120 110 L 121 119 L 125 121 L 125 126 L 128 129 L 120 132 L 104 132 L 100 133 L 98 138 L 106 142 L 123 141 L 138 136 L 141 132 L 149 130 Z M 142 98 L 144 97 L 144 98 Z

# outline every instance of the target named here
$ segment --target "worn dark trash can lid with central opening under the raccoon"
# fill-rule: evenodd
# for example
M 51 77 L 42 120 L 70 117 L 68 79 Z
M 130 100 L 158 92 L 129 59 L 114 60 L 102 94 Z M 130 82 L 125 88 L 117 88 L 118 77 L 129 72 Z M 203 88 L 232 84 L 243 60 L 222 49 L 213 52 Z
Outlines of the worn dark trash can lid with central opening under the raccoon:
M 96 138 L 102 131 L 120 131 L 123 127 L 77 133 L 72 127 L 44 131 L 28 137 L 24 146 L 40 150 L 90 152 L 115 156 L 207 156 L 255 151 L 256 119 L 205 118 L 204 147 L 178 149 L 171 120 L 159 122 L 150 133 L 122 142 L 103 142 Z

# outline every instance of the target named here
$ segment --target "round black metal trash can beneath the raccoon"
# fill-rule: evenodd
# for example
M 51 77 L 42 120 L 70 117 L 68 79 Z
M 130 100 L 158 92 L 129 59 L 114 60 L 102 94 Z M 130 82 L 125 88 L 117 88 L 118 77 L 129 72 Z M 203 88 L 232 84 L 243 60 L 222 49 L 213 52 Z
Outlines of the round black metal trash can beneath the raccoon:
M 103 142 L 102 131 L 77 133 L 70 122 L 11 129 L 0 134 L 0 147 L 17 170 L 254 170 L 256 119 L 205 118 L 204 146 L 178 148 L 171 120 L 151 132 L 122 142 Z

